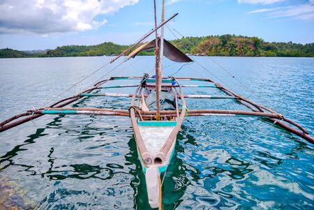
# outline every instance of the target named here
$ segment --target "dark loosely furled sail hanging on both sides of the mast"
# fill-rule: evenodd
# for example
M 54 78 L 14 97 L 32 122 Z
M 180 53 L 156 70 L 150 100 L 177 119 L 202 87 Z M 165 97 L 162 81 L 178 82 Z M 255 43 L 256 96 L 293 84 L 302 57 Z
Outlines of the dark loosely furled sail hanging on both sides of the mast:
M 137 47 L 137 49 L 133 50 L 128 55 L 128 59 L 134 58 L 138 53 L 142 52 L 143 50 L 149 50 L 155 47 L 155 41 L 156 40 L 151 40 L 148 43 L 145 43 L 144 45 L 141 45 L 140 47 Z M 158 38 L 158 45 L 160 47 L 160 38 Z M 190 59 L 186 54 L 181 52 L 177 47 L 174 47 L 170 42 L 167 40 L 163 40 L 163 54 L 167 59 L 170 59 L 171 61 L 174 62 L 179 62 L 179 63 L 186 63 L 186 62 L 192 62 L 193 60 Z

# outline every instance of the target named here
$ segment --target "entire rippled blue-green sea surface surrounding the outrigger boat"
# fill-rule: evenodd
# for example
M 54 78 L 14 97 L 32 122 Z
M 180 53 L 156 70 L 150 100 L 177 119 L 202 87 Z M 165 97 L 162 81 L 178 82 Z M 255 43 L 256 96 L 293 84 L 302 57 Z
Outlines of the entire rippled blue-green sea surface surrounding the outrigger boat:
M 120 59 L 77 84 L 110 59 L 0 59 L 0 121 L 72 96 L 110 75 L 154 74 L 154 57 L 119 64 Z M 313 58 L 195 61 L 184 66 L 165 60 L 163 75 L 211 78 L 314 135 Z M 213 88 L 184 92 L 223 95 Z M 247 110 L 230 99 L 187 103 L 190 110 Z M 83 98 L 70 106 L 128 109 L 130 99 Z M 175 149 L 163 182 L 164 209 L 314 209 L 314 147 L 272 123 L 251 117 L 186 117 Z M 0 133 L 0 209 L 149 209 L 130 119 L 45 115 Z

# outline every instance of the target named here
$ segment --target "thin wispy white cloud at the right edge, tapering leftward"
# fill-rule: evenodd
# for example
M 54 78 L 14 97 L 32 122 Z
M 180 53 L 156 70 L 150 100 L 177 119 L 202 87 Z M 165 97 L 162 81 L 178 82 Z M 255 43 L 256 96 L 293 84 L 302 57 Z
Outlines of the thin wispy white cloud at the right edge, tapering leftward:
M 253 10 L 248 14 L 265 13 L 268 18 L 287 18 L 292 17 L 299 20 L 314 20 L 314 1 L 294 6 L 284 6 L 280 8 L 265 8 Z

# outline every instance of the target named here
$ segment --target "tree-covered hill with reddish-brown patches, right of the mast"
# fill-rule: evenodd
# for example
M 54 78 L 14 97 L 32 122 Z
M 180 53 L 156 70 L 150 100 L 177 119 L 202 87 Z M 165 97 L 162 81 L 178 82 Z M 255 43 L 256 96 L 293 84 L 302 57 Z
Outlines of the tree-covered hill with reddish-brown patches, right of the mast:
M 208 56 L 314 57 L 314 43 L 268 43 L 257 37 L 230 34 L 202 38 L 186 37 L 172 40 L 172 43 L 185 53 L 205 53 Z

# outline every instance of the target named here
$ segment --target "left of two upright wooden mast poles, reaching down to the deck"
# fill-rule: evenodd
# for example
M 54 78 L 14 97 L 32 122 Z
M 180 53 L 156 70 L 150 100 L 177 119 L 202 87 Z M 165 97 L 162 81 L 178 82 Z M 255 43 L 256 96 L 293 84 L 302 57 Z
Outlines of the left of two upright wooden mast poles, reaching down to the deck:
M 156 50 L 155 50 L 155 70 L 156 70 L 156 120 L 159 120 L 160 116 L 160 104 L 159 104 L 159 91 L 160 91 L 160 73 L 159 73 L 159 49 L 158 49 L 158 33 L 157 33 L 157 14 L 156 14 L 156 0 L 154 0 L 154 13 L 155 13 L 155 36 L 156 36 Z

